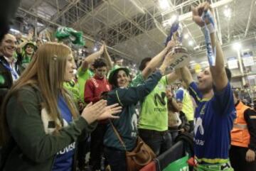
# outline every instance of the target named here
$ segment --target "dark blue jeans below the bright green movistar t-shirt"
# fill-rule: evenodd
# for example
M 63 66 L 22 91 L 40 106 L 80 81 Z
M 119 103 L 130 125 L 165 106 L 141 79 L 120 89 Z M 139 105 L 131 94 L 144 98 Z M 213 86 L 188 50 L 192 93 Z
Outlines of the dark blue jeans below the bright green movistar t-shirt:
M 171 148 L 172 140 L 169 131 L 139 129 L 139 136 L 158 156 Z

